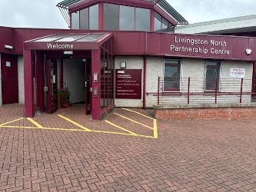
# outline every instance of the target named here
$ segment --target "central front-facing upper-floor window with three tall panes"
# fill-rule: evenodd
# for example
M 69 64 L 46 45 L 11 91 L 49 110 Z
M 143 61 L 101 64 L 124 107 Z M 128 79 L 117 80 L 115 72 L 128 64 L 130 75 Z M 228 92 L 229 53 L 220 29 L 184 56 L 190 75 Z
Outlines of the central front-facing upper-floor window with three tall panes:
M 115 31 L 149 31 L 150 10 L 104 3 L 104 29 Z

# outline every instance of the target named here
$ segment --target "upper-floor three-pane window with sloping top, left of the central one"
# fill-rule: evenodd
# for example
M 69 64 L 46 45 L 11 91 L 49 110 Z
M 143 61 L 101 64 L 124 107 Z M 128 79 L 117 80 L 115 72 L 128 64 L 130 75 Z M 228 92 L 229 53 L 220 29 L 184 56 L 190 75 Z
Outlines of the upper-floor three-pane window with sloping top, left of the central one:
M 71 29 L 98 30 L 98 4 L 72 12 Z

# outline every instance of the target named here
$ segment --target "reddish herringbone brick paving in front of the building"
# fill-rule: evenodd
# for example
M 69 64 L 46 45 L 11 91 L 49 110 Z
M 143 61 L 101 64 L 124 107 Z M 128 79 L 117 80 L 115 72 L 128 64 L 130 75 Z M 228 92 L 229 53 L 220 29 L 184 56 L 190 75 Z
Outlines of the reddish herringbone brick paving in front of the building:
M 22 105 L 0 108 L 0 124 L 22 118 L 22 111 Z M 68 111 L 58 113 L 91 129 L 115 130 Z M 151 124 L 120 108 L 114 113 Z M 151 134 L 114 113 L 106 120 Z M 34 120 L 75 128 L 56 114 Z M 0 127 L 0 191 L 256 191 L 256 121 L 158 121 L 158 139 Z

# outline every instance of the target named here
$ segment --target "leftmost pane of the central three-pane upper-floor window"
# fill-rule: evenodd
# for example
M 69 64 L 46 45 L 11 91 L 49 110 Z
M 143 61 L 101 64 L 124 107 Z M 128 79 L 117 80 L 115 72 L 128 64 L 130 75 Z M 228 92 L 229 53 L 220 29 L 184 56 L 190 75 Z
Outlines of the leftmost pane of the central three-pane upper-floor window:
M 104 4 L 104 29 L 118 31 L 119 5 Z

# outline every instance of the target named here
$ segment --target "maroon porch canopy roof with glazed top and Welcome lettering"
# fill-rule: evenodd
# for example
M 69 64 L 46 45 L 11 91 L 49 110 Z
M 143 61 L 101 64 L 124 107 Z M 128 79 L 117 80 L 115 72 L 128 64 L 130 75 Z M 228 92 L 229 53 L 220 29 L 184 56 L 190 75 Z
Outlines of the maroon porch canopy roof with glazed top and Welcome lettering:
M 111 38 L 111 33 L 54 34 L 24 42 L 25 50 L 94 50 Z

